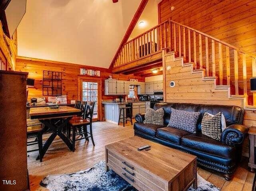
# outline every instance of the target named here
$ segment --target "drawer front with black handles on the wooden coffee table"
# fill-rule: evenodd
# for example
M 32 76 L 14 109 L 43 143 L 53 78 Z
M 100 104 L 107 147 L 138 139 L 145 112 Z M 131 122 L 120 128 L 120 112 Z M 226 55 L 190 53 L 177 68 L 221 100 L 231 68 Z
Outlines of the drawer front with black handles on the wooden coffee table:
M 133 179 L 137 179 L 143 182 L 145 185 L 148 185 L 148 187 L 150 187 L 154 191 L 164 191 L 164 189 L 162 189 L 165 187 L 163 182 L 159 181 L 159 179 L 157 179 L 156 177 L 153 177 L 152 175 L 149 175 L 148 173 L 144 172 L 142 169 L 136 167 L 132 163 L 128 163 L 124 159 L 118 158 L 112 152 L 108 152 L 107 165 L 109 167 L 114 166 L 115 169 L 118 168 L 121 173 L 125 173 L 128 177 L 132 177 Z M 130 181 L 128 182 L 130 183 Z

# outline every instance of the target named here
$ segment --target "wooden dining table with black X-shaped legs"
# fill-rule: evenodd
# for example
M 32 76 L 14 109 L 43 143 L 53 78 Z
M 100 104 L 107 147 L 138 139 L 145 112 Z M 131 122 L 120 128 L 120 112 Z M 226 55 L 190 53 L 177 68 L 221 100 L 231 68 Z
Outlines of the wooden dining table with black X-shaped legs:
M 51 108 L 49 107 L 36 107 L 30 108 L 30 118 L 38 119 L 40 122 L 44 124 L 42 129 L 42 134 L 49 129 L 52 131 L 51 136 L 46 140 L 46 142 L 42 146 L 41 158 L 44 157 L 46 151 L 49 146 L 52 144 L 53 140 L 58 135 L 63 142 L 68 146 L 68 148 L 72 151 L 72 140 L 66 136 L 64 133 L 64 128 L 68 124 L 68 121 L 74 115 L 80 115 L 81 110 L 70 107 L 70 106 L 59 106 L 59 108 Z M 38 158 L 39 159 L 39 156 Z

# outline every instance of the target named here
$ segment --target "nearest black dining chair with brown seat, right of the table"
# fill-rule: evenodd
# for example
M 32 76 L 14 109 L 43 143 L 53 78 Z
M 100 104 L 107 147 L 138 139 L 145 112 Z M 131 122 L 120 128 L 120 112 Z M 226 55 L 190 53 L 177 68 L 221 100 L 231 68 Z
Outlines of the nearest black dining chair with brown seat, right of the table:
M 92 136 L 92 119 L 93 119 L 93 110 L 94 110 L 95 102 L 88 102 L 86 105 L 85 112 L 83 114 L 82 119 L 74 118 L 69 121 L 70 129 L 72 129 L 72 144 L 73 144 L 73 152 L 75 151 L 75 142 L 77 140 L 86 139 L 89 141 L 89 138 L 92 139 L 92 144 L 94 144 L 93 136 Z M 87 130 L 87 126 L 90 126 L 90 132 Z M 76 132 L 77 129 L 81 129 L 81 132 Z M 88 136 L 89 134 L 89 136 Z M 82 138 L 76 139 L 76 135 L 84 135 Z M 69 134 L 70 137 L 70 134 Z

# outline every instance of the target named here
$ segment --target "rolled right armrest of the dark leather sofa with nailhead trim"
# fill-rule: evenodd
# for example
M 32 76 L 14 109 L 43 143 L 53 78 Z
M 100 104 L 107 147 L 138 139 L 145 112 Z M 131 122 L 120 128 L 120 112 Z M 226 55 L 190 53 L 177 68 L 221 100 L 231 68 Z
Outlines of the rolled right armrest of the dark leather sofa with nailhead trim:
M 222 132 L 220 142 L 230 146 L 242 144 L 247 132 L 248 128 L 246 126 L 239 124 L 230 125 Z

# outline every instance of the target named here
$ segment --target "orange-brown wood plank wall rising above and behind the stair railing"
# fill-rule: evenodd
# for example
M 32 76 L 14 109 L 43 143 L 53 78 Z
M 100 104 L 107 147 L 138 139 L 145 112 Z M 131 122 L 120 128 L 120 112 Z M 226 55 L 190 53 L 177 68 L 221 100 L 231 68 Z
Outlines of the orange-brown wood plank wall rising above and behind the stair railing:
M 208 35 L 216 37 L 226 43 L 230 43 L 238 48 L 256 54 L 256 1 L 255 0 L 162 0 L 158 4 L 158 20 L 159 23 L 171 18 L 172 20 L 204 32 Z M 174 6 L 171 11 L 170 7 Z M 177 30 L 178 32 L 178 30 Z M 199 37 L 196 36 L 196 39 Z M 202 42 L 204 43 L 204 37 Z M 188 42 L 186 42 L 188 43 Z M 193 48 L 193 43 L 192 43 Z M 209 45 L 209 48 L 210 45 Z M 199 47 L 196 47 L 199 50 Z M 215 45 L 216 53 L 218 53 L 218 45 Z M 211 51 L 209 51 L 211 52 Z M 222 48 L 222 54 L 225 56 L 226 51 Z M 205 50 L 203 50 L 205 55 Z M 197 64 L 199 65 L 199 54 L 196 55 Z M 201 59 L 205 60 L 205 57 Z M 230 51 L 230 80 L 231 89 L 234 94 L 234 59 L 233 51 Z M 242 60 L 242 55 L 238 55 L 238 59 Z M 210 60 L 211 62 L 211 55 Z M 219 73 L 219 60 L 216 57 L 216 75 Z M 242 63 L 242 62 L 241 62 Z M 226 61 L 223 60 L 223 78 L 226 79 Z M 199 66 L 198 66 L 199 67 Z M 243 90 L 243 66 L 238 66 L 238 83 L 239 94 L 244 93 Z M 210 73 L 212 69 L 210 68 Z M 251 59 L 247 58 L 247 76 L 252 77 Z M 225 81 L 224 81 L 225 84 Z M 249 104 L 252 104 L 252 94 L 250 93 L 250 85 L 248 80 Z

